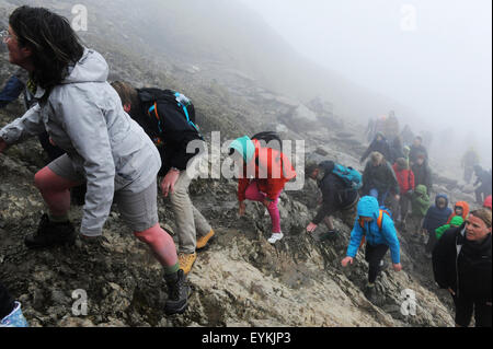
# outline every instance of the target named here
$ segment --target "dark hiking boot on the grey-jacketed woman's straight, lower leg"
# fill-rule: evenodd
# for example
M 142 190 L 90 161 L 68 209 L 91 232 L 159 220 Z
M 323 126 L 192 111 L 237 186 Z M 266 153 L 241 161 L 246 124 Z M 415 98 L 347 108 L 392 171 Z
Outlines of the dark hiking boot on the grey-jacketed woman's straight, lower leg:
M 188 305 L 190 287 L 185 283 L 186 278 L 182 269 L 176 272 L 165 275 L 164 281 L 168 284 L 168 300 L 164 304 L 167 315 L 183 314 Z

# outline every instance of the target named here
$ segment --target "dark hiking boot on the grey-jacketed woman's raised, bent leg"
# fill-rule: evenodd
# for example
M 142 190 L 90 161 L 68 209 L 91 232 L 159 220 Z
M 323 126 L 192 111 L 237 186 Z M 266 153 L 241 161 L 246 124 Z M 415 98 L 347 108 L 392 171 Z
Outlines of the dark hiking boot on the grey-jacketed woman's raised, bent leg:
M 27 248 L 43 248 L 56 245 L 73 244 L 76 242 L 76 230 L 70 221 L 56 223 L 50 222 L 48 214 L 43 214 L 34 235 L 26 236 L 24 243 Z

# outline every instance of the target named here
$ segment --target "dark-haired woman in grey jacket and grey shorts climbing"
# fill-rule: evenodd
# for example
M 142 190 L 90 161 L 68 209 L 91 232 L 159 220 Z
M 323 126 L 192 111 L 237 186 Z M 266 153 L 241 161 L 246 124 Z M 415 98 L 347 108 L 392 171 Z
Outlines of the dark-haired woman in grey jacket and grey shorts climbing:
M 169 291 L 164 311 L 184 312 L 188 287 L 173 239 L 158 220 L 156 178 L 161 159 L 106 82 L 106 61 L 80 44 L 67 19 L 46 9 L 18 8 L 9 24 L 10 62 L 30 72 L 39 103 L 0 130 L 0 152 L 45 130 L 66 151 L 34 177 L 49 214 L 42 217 L 37 233 L 25 244 L 36 248 L 74 242 L 69 189 L 85 182 L 82 237 L 102 235 L 115 202 L 135 236 L 164 268 Z

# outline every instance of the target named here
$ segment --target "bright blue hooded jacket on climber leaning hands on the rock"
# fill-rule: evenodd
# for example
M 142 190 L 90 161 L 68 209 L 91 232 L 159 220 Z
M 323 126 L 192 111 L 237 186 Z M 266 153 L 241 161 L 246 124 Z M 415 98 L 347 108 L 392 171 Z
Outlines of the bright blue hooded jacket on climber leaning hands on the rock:
M 390 217 L 383 213 L 381 230 L 378 228 L 378 216 L 380 207 L 376 198 L 365 196 L 358 203 L 358 217 L 356 218 L 353 231 L 351 232 L 349 246 L 347 247 L 347 256 L 355 257 L 363 235 L 366 234 L 366 243 L 371 246 L 386 244 L 390 247 L 390 254 L 393 264 L 399 264 L 401 260 L 400 244 L 397 237 L 395 226 Z M 371 222 L 365 222 L 365 228 L 359 225 L 359 217 L 371 217 Z

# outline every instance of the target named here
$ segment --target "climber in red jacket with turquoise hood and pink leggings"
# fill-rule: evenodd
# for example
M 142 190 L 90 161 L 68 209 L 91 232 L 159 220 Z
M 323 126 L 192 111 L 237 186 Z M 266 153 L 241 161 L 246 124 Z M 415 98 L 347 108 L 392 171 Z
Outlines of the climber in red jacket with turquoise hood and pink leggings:
M 283 239 L 277 208 L 279 195 L 287 182 L 296 177 L 295 168 L 280 151 L 264 148 L 256 139 L 244 136 L 230 144 L 230 155 L 242 164 L 238 183 L 240 217 L 245 213 L 245 200 L 262 202 L 271 214 L 271 244 Z

